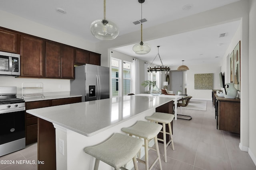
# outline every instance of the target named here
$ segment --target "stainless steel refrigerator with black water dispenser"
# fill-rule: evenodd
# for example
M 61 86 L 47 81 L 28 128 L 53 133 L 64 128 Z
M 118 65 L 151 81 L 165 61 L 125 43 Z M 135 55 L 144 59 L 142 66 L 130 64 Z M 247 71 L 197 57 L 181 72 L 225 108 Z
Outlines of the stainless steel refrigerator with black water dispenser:
M 75 67 L 70 94 L 82 95 L 82 102 L 109 98 L 109 67 L 85 64 Z

